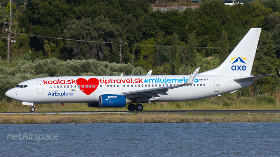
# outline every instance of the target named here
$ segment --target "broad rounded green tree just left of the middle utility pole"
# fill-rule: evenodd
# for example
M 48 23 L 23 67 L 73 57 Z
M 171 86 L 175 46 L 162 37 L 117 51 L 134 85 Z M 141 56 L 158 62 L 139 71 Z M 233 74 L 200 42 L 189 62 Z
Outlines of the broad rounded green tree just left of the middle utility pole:
M 66 41 L 67 49 L 72 52 L 76 59 L 98 59 L 110 61 L 110 47 L 104 42 L 116 42 L 120 36 L 121 29 L 111 24 L 108 18 L 103 15 L 91 19 L 73 20 L 68 23 L 63 36 L 68 39 L 85 41 Z

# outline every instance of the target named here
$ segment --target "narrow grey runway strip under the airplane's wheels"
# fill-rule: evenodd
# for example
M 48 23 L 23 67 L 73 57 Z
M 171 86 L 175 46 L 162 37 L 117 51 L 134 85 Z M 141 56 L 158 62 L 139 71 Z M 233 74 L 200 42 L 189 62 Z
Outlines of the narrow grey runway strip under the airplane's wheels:
M 222 113 L 277 113 L 280 114 L 280 110 L 170 110 L 170 111 L 57 111 L 57 112 L 0 112 L 0 114 L 4 115 L 12 115 L 12 114 L 101 114 L 101 113 L 111 113 L 111 114 L 222 114 Z

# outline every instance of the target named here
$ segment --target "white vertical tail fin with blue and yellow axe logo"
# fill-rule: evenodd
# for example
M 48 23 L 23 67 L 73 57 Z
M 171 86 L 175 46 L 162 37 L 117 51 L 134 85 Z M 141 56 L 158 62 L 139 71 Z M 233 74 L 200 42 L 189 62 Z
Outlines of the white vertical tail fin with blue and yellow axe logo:
M 261 28 L 251 28 L 219 67 L 200 74 L 250 76 L 260 33 Z

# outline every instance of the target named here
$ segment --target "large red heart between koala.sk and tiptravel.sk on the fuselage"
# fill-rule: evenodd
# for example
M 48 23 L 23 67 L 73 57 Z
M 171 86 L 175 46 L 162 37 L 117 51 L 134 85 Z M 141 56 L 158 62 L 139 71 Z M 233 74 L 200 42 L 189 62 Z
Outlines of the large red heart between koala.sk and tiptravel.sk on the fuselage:
M 90 78 L 89 80 L 79 78 L 77 79 L 77 85 L 80 86 L 80 90 L 86 95 L 90 95 L 96 90 L 99 85 L 99 80 L 96 78 Z

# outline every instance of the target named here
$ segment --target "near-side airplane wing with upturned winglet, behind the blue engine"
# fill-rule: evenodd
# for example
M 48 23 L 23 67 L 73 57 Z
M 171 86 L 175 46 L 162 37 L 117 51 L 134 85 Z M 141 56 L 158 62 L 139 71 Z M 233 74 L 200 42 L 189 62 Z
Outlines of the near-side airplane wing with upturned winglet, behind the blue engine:
M 143 90 L 136 90 L 136 91 L 130 91 L 130 92 L 124 92 L 123 94 L 127 96 L 128 98 L 136 98 L 136 97 L 145 97 L 145 98 L 152 98 L 152 97 L 159 97 L 158 94 L 168 95 L 166 92 L 169 91 L 169 89 L 179 88 L 187 85 L 191 85 L 194 83 L 195 78 L 198 74 L 199 68 L 197 68 L 193 74 L 190 76 L 187 82 L 184 84 L 178 84 L 174 86 L 166 86 L 166 87 L 157 87 L 152 89 L 143 89 Z

